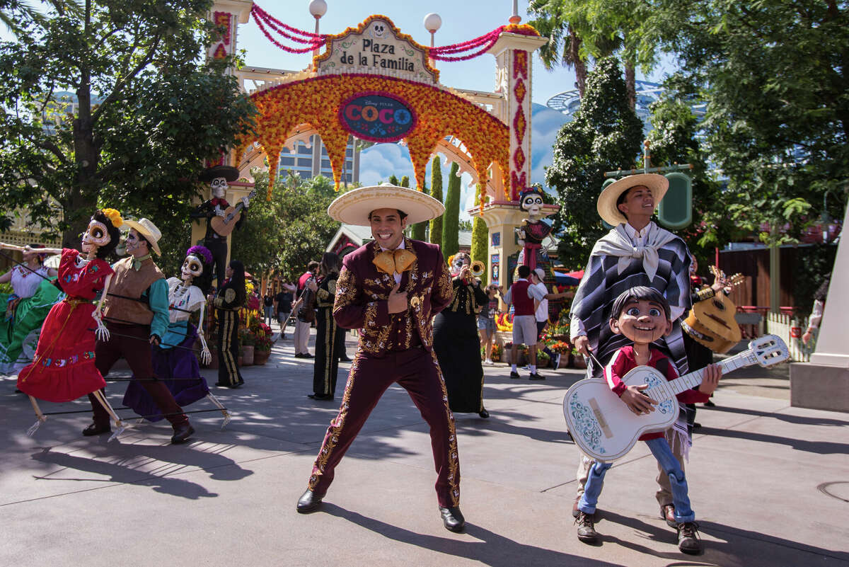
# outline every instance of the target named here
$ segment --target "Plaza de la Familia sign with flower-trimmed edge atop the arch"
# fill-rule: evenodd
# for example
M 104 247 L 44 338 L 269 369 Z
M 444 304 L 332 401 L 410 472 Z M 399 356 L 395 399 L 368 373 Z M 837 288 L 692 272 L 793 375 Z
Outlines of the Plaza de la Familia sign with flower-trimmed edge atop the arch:
M 369 16 L 357 28 L 327 36 L 327 41 L 327 50 L 314 58 L 320 76 L 356 73 L 439 83 L 439 71 L 428 63 L 428 48 L 399 31 L 386 16 Z

